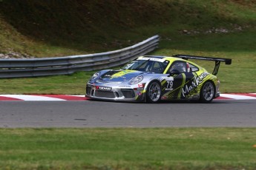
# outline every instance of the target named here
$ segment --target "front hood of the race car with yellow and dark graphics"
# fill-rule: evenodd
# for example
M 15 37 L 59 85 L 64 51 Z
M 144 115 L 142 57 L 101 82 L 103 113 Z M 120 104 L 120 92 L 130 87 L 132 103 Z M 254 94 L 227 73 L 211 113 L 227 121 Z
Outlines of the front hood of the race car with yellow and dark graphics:
M 122 81 L 130 81 L 131 78 L 136 77 L 137 75 L 144 74 L 140 71 L 135 70 L 110 70 L 105 72 L 103 75 L 99 77 L 99 81 L 105 82 L 122 82 Z

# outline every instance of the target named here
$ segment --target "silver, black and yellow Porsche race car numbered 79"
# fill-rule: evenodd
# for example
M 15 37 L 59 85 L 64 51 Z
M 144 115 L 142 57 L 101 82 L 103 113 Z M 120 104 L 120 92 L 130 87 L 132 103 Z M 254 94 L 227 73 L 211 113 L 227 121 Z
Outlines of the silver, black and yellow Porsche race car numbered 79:
M 188 59 L 215 61 L 212 74 Z M 86 85 L 86 97 L 107 101 L 157 103 L 172 100 L 197 100 L 210 103 L 220 96 L 217 72 L 220 62 L 229 58 L 193 55 L 172 57 L 145 55 L 119 70 L 96 72 Z

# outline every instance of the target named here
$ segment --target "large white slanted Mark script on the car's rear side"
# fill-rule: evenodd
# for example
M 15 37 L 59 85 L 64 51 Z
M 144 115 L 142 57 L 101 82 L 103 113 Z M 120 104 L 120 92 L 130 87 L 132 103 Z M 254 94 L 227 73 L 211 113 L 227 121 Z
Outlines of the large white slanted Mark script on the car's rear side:
M 202 74 L 195 76 L 192 81 L 188 82 L 182 89 L 183 97 L 186 97 L 189 92 L 196 89 L 197 86 L 200 86 L 207 75 L 209 75 L 209 73 L 203 72 Z

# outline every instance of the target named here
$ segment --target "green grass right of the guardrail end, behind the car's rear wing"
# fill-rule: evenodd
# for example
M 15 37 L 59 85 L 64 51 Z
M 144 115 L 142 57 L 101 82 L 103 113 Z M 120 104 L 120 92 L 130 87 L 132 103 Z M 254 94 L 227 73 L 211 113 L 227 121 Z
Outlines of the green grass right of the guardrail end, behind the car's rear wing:
M 182 39 L 163 40 L 155 54 L 203 55 L 220 58 L 232 58 L 232 65 L 220 64 L 217 77 L 220 79 L 221 92 L 256 91 L 256 43 L 255 31 L 213 35 L 187 35 Z M 214 62 L 195 61 L 209 72 Z

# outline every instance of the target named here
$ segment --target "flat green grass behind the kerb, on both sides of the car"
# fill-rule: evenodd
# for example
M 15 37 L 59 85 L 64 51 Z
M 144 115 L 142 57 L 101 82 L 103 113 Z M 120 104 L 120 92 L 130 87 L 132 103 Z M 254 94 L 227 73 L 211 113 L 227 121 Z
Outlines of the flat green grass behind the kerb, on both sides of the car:
M 218 78 L 220 92 L 255 92 L 256 32 L 214 35 L 184 35 L 182 39 L 162 38 L 153 55 L 203 55 L 232 58 L 232 65 L 220 64 Z M 209 72 L 214 62 L 194 61 Z M 85 84 L 93 72 L 77 72 L 73 75 L 57 75 L 41 78 L 2 78 L 0 94 L 66 94 L 84 95 Z

